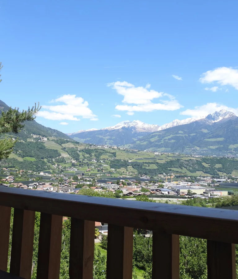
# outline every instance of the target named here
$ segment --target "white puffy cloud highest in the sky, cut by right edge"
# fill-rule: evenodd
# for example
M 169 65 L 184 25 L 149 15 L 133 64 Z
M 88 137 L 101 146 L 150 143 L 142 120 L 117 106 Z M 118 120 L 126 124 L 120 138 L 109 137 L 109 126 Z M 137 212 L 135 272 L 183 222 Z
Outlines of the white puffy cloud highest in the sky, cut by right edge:
M 231 85 L 238 90 L 238 69 L 220 67 L 202 74 L 202 83 L 217 82 L 221 85 Z

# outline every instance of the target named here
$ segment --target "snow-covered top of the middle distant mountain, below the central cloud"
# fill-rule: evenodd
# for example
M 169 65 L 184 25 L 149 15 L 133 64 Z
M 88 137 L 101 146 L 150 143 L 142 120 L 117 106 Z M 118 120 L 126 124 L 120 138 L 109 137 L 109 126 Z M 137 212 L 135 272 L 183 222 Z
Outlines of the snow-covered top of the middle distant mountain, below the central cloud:
M 139 120 L 134 120 L 134 121 L 126 120 L 126 121 L 122 121 L 122 122 L 118 123 L 115 126 L 103 128 L 102 130 L 117 130 L 117 129 L 121 129 L 123 127 L 130 128 L 131 130 L 137 131 L 137 132 L 155 132 L 155 131 L 158 131 L 160 128 L 159 125 L 146 124 Z

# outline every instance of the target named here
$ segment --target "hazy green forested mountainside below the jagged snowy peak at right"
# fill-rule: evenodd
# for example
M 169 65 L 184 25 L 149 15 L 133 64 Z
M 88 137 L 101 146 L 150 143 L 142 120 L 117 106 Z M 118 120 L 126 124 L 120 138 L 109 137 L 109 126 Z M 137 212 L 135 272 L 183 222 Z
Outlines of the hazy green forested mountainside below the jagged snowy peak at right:
M 238 117 L 214 123 L 206 119 L 147 135 L 127 148 L 202 155 L 238 154 Z

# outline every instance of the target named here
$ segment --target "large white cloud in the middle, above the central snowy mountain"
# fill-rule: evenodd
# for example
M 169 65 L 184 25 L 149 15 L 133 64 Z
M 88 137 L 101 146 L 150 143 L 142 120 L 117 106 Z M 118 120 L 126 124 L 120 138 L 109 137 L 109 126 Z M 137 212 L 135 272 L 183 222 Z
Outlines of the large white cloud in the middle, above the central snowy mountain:
M 135 87 L 129 82 L 112 82 L 108 83 L 107 86 L 112 86 L 118 94 L 123 95 L 122 105 L 117 105 L 116 109 L 120 111 L 144 111 L 150 112 L 152 110 L 176 110 L 183 106 L 175 100 L 174 96 L 164 93 L 157 92 L 155 90 L 148 90 L 149 84 L 146 87 L 139 86 Z M 152 100 L 155 98 L 167 97 L 169 100 L 161 100 L 160 103 L 153 103 Z M 135 104 L 135 105 L 128 105 Z M 132 114 L 130 114 L 132 115 Z

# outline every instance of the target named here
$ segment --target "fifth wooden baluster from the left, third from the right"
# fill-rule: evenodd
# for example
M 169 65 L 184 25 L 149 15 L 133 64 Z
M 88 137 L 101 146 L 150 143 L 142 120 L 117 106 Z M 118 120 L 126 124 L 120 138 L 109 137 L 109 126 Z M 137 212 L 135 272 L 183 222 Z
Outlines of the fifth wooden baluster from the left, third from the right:
M 108 225 L 107 279 L 131 279 L 133 228 Z

